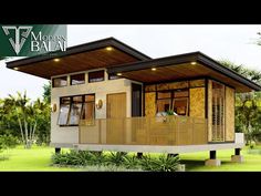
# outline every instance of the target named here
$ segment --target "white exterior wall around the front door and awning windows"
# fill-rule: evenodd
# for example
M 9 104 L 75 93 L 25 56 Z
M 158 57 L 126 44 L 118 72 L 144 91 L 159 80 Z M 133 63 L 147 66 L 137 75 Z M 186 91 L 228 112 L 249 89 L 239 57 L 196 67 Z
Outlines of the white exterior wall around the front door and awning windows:
M 101 70 L 101 69 L 100 69 Z M 95 70 L 92 70 L 95 71 Z M 75 73 L 73 73 L 75 74 Z M 62 76 L 62 75 L 59 75 Z M 60 112 L 60 97 L 80 94 L 95 94 L 95 101 L 102 100 L 103 107 L 95 109 L 95 118 L 106 118 L 106 95 L 111 93 L 126 92 L 126 116 L 132 116 L 132 81 L 126 79 L 108 80 L 105 71 L 105 80 L 102 82 L 88 83 L 87 72 L 85 73 L 85 84 L 53 87 L 51 91 L 51 104 L 56 104 L 56 112 L 51 114 L 51 143 L 77 144 L 79 126 L 60 126 L 58 117 Z M 56 78 L 56 76 L 55 76 Z M 119 103 L 121 104 L 121 103 Z

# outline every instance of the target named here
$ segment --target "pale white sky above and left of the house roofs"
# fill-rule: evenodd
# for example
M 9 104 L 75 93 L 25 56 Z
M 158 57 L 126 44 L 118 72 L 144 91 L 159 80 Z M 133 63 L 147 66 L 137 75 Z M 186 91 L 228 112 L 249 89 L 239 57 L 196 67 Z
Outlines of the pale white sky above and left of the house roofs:
M 215 60 L 229 60 L 261 71 L 261 45 L 254 44 L 259 25 L 67 25 L 67 47 L 114 37 L 150 58 L 200 51 Z M 1 40 L 0 40 L 1 44 Z M 31 100 L 42 96 L 48 80 L 9 70 L 0 62 L 0 99 L 27 91 Z

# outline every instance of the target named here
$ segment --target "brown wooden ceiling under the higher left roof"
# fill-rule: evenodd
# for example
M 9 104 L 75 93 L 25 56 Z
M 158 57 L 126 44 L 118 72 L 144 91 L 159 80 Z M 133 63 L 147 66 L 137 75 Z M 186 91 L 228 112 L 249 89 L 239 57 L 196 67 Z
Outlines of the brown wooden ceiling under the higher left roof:
M 102 48 L 93 51 L 66 55 L 60 58 L 59 60 L 59 62 L 55 62 L 54 59 L 50 59 L 18 66 L 15 70 L 44 79 L 51 79 L 51 76 L 54 75 L 87 71 L 98 68 L 109 68 L 113 65 L 138 61 L 136 58 L 116 48 L 113 48 L 109 51 L 106 50 L 106 48 Z

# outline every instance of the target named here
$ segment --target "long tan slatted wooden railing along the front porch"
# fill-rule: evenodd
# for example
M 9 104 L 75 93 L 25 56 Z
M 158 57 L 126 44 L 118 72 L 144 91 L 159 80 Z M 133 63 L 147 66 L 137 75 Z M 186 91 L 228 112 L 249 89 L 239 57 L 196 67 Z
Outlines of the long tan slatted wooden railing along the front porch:
M 80 144 L 207 144 L 207 120 L 186 116 L 81 120 Z

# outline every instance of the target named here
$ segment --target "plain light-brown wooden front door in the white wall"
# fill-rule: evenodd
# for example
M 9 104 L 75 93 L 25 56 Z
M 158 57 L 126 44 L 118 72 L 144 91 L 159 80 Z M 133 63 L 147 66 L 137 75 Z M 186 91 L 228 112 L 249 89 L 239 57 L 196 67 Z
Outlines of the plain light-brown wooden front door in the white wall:
M 107 144 L 124 144 L 126 93 L 107 94 Z

